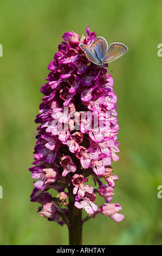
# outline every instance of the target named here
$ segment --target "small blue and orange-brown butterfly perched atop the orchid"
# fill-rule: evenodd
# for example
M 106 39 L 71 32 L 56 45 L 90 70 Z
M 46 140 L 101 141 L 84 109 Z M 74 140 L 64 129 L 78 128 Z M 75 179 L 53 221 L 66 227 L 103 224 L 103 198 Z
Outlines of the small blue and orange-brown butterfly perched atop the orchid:
M 84 44 L 79 44 L 79 46 L 90 62 L 101 66 L 101 68 L 104 63 L 112 62 L 128 51 L 128 47 L 121 42 L 113 42 L 108 47 L 106 39 L 102 36 L 99 36 L 98 41 L 93 41 L 90 46 Z

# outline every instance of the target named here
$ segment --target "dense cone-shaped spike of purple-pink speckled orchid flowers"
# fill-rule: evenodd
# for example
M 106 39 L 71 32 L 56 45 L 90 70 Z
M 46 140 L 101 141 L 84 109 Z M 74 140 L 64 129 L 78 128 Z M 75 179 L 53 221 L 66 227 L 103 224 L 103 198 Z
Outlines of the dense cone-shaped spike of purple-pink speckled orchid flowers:
M 119 160 L 113 78 L 107 74 L 107 64 L 100 70 L 81 50 L 79 44 L 90 46 L 97 40 L 89 26 L 85 33 L 87 36 L 63 34 L 58 52 L 48 65 L 50 72 L 41 88 L 43 98 L 35 119 L 40 126 L 34 166 L 29 168 L 31 178 L 36 179 L 31 201 L 41 204 L 41 216 L 61 225 L 69 224 L 68 198 L 92 217 L 101 213 L 117 222 L 124 218 L 118 213 L 121 206 L 110 203 L 115 181 L 119 180 L 111 167 L 112 161 Z M 89 175 L 94 187 L 85 184 Z M 105 204 L 98 207 L 96 196 Z

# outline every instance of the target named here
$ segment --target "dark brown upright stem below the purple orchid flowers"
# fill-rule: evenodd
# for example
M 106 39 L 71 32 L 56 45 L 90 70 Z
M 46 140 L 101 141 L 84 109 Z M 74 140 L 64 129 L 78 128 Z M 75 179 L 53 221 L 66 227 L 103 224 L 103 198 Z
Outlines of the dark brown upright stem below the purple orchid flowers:
M 73 195 L 73 184 L 70 182 L 70 194 Z M 69 197 L 69 245 L 82 245 L 82 209 L 74 205 L 73 197 Z

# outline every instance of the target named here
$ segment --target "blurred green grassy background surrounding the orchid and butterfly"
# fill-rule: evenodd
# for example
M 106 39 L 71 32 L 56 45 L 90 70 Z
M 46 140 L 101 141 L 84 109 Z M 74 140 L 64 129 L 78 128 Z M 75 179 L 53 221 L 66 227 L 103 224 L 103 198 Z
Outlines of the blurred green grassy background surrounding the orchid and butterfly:
M 161 245 L 162 2 L 127 0 L 0 1 L 1 245 L 68 245 L 67 227 L 49 222 L 30 202 L 34 119 L 64 32 L 86 27 L 129 51 L 109 64 L 118 96 L 120 160 L 113 163 L 114 203 L 124 221 L 99 215 L 83 226 L 83 245 Z M 85 34 L 86 35 L 86 34 Z M 103 200 L 101 199 L 101 204 Z

